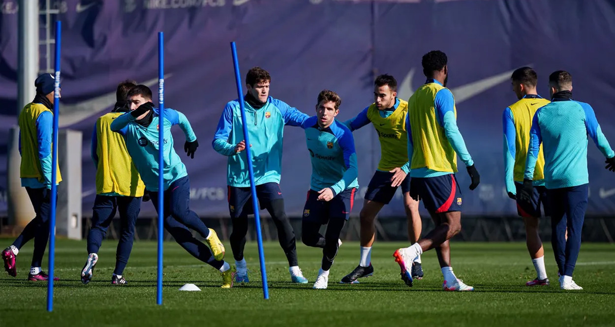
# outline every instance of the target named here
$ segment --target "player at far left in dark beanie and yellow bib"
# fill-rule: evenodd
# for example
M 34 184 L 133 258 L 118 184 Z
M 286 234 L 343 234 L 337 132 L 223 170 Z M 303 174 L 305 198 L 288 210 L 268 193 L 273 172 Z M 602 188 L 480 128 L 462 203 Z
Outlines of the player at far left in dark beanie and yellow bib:
M 54 131 L 54 77 L 42 74 L 34 81 L 36 95 L 19 114 L 19 153 L 22 156 L 20 177 L 36 217 L 30 221 L 12 245 L 2 251 L 4 270 L 17 276 L 16 259 L 23 245 L 34 238 L 34 253 L 28 280 L 48 280 L 49 275 L 41 270 L 42 257 L 49 240 L 49 216 L 51 215 L 52 133 Z M 60 97 L 60 95 L 58 95 Z M 60 166 L 57 168 L 57 184 L 62 181 Z M 59 280 L 54 277 L 54 280 Z

